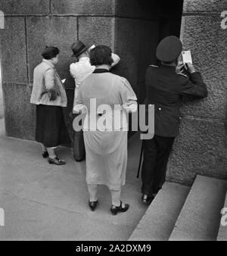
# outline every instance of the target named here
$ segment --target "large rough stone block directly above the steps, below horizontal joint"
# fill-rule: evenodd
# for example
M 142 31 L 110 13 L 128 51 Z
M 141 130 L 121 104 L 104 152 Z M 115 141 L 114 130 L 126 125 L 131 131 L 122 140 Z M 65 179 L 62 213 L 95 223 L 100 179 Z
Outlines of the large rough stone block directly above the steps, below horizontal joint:
M 226 136 L 224 123 L 182 118 L 167 180 L 191 185 L 196 174 L 227 179 Z

